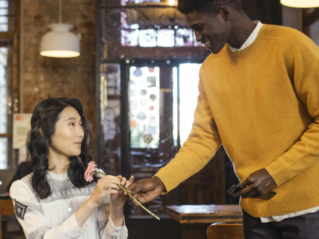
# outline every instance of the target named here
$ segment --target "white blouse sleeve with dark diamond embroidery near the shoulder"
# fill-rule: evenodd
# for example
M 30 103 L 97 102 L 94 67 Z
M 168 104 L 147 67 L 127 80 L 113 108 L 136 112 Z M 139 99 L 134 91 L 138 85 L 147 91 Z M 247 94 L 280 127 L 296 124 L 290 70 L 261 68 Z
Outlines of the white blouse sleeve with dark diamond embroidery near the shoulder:
M 78 226 L 74 213 L 61 225 L 51 228 L 50 223 L 43 215 L 35 193 L 21 180 L 12 184 L 10 197 L 13 200 L 15 216 L 28 239 L 75 239 L 86 230 L 86 227 L 80 228 Z

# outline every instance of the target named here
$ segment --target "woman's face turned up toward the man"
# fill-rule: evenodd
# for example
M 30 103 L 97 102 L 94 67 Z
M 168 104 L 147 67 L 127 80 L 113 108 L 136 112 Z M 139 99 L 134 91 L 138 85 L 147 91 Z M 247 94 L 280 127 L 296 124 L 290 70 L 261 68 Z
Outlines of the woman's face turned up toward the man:
M 81 142 L 84 137 L 82 120 L 78 111 L 66 107 L 61 113 L 52 135 L 51 150 L 58 156 L 72 157 L 81 154 Z

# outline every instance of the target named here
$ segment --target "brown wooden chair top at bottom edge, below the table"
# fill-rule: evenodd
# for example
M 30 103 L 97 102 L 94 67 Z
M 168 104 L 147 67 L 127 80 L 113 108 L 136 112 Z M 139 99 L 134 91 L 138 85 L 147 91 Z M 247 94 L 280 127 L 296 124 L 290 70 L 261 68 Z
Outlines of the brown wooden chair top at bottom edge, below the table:
M 207 229 L 207 239 L 244 239 L 242 223 L 214 223 Z

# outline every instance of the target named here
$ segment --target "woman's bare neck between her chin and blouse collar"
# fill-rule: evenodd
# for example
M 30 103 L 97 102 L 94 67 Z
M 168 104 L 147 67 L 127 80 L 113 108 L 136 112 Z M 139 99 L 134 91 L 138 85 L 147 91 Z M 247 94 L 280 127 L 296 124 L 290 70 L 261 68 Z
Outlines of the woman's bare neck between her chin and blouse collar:
M 51 147 L 48 153 L 49 169 L 53 169 L 50 172 L 55 174 L 63 174 L 67 172 L 67 168 L 70 164 L 70 157 L 61 155 Z

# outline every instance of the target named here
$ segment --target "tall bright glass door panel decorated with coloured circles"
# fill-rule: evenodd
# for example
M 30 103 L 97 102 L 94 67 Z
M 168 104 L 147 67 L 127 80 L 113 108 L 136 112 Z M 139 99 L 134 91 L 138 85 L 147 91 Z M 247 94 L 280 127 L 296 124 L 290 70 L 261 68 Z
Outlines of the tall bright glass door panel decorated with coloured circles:
M 131 148 L 158 148 L 158 67 L 130 67 L 129 112 Z

